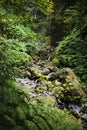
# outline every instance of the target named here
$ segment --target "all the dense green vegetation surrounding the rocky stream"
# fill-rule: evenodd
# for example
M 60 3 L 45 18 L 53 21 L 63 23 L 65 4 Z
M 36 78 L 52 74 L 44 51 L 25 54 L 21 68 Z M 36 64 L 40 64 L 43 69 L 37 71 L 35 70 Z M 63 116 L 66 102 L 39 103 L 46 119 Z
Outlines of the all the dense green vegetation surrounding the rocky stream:
M 87 92 L 86 6 L 86 0 L 0 1 L 1 130 L 83 129 L 67 110 L 33 104 L 15 79 L 23 76 L 20 68 L 29 67 L 36 54 L 45 59 L 51 55 L 48 49 L 56 47 L 55 54 L 52 51 L 55 65 L 73 69 Z M 63 80 L 62 85 L 68 88 L 68 81 Z M 53 87 L 57 93 L 57 87 Z M 62 89 L 65 92 L 64 86 Z

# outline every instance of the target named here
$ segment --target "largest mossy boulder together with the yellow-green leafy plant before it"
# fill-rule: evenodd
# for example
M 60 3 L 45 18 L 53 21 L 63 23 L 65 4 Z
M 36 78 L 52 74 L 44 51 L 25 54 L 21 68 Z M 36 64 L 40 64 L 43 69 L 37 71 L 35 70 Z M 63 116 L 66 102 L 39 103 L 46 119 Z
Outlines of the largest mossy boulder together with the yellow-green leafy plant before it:
M 59 88 L 59 97 L 64 102 L 79 101 L 79 99 L 85 95 L 81 88 L 81 84 L 78 81 L 77 76 L 70 68 L 62 68 L 57 73 L 57 78 L 61 82 Z

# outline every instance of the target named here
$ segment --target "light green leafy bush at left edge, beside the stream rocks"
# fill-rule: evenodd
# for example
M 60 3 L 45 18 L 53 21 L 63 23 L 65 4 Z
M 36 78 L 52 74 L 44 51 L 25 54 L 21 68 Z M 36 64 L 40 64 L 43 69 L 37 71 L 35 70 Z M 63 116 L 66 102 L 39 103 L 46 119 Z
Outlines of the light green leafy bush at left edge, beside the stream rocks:
M 26 51 L 24 42 L 0 37 L 0 82 L 17 74 L 17 67 L 30 64 L 31 57 Z

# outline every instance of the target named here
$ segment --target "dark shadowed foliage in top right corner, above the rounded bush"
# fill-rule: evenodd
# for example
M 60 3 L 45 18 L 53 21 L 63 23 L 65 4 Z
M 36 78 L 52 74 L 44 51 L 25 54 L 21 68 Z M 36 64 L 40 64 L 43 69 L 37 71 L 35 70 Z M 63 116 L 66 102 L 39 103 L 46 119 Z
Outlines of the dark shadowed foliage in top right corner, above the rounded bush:
M 86 6 L 87 3 L 81 1 L 65 10 L 64 22 L 67 25 L 68 34 L 74 27 L 79 30 L 80 33 L 86 31 L 84 30 L 87 27 L 87 15 L 85 13 L 87 11 Z

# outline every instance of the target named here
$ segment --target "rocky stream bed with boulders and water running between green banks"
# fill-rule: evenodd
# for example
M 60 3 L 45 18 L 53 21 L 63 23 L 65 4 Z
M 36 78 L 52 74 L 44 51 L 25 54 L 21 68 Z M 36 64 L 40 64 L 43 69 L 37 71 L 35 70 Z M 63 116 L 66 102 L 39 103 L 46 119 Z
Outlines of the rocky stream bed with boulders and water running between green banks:
M 32 102 L 37 101 L 56 109 L 67 109 L 87 128 L 87 103 L 81 103 L 84 92 L 70 68 L 59 69 L 48 61 L 33 61 L 22 69 L 23 76 L 17 82 Z

